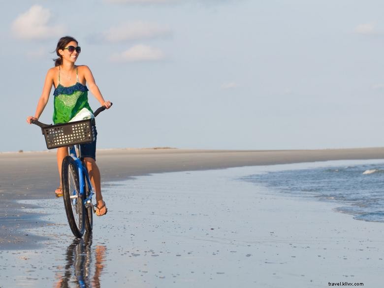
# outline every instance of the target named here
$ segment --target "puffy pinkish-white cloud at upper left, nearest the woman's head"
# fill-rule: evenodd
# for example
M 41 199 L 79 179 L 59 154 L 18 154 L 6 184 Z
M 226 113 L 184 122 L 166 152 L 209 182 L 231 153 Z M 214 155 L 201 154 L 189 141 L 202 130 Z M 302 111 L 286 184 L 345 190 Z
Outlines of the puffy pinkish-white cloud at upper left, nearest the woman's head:
M 13 21 L 11 30 L 16 38 L 25 40 L 47 39 L 63 35 L 64 27 L 50 24 L 50 18 L 49 9 L 33 5 Z

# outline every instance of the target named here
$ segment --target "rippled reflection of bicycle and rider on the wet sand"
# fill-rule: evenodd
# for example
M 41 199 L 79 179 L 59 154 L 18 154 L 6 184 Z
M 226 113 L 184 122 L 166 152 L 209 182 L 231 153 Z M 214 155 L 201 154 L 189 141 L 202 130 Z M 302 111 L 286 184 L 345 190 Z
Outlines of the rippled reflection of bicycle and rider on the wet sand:
M 106 247 L 103 245 L 92 249 L 92 233 L 84 234 L 82 239 L 74 239 L 66 250 L 64 275 L 56 274 L 58 281 L 54 288 L 100 288 L 99 277 L 105 265 L 105 251 Z

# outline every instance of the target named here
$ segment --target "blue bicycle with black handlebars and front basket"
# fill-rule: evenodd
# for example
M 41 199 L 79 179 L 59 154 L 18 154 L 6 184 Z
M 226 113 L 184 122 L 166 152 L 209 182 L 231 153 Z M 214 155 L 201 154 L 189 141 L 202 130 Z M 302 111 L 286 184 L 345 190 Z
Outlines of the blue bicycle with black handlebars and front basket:
M 101 106 L 94 116 L 105 109 Z M 69 227 L 75 237 L 81 238 L 85 230 L 92 231 L 96 213 L 91 180 L 80 151 L 80 144 L 91 143 L 95 138 L 95 118 L 57 125 L 37 120 L 31 123 L 41 128 L 48 149 L 68 147 L 69 155 L 62 164 L 63 200 Z

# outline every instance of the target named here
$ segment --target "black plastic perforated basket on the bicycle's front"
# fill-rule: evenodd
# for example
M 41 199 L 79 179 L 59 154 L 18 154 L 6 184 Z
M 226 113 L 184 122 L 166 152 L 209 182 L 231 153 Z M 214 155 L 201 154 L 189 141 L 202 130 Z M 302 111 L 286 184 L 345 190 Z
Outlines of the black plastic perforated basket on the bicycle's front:
M 75 144 L 91 143 L 95 140 L 95 120 L 81 120 L 41 128 L 48 149 Z

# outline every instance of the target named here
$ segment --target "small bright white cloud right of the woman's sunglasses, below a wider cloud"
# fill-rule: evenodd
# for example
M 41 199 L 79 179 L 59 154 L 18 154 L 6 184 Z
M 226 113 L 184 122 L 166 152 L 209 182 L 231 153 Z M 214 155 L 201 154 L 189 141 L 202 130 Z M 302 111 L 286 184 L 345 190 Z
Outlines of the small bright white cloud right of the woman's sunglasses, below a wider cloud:
M 110 60 L 113 62 L 143 62 L 157 61 L 164 58 L 165 55 L 160 49 L 138 44 L 127 51 L 112 55 Z

